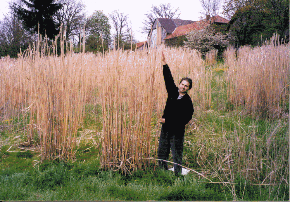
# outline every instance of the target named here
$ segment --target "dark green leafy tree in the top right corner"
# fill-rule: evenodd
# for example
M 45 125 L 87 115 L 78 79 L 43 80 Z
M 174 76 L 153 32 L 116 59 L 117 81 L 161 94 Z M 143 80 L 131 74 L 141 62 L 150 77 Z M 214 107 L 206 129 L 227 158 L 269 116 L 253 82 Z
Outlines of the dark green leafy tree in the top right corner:
M 284 38 L 283 31 L 289 28 L 288 0 L 229 0 L 223 9 L 231 19 L 227 29 L 241 46 L 256 46 L 276 32 Z

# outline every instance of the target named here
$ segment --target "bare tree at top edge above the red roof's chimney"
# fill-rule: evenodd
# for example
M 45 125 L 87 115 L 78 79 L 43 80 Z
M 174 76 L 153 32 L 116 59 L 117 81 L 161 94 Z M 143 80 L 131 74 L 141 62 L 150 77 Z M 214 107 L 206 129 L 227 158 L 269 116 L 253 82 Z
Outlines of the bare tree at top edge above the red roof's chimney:
M 200 11 L 202 18 L 214 18 L 211 21 L 211 24 L 214 23 L 216 16 L 218 15 L 218 11 L 221 7 L 221 0 L 200 0 L 202 10 Z

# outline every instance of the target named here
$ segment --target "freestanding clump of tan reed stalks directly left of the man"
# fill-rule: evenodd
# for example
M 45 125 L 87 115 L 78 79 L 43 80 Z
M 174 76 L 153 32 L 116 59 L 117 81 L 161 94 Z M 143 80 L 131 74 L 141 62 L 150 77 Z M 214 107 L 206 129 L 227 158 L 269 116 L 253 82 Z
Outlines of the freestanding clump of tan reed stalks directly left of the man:
M 106 72 L 102 74 L 106 76 L 101 80 L 104 84 L 101 88 L 104 122 L 102 162 L 108 168 L 130 172 L 135 169 L 134 165 L 137 168 L 146 166 L 146 163 L 142 163 L 142 156 L 147 157 L 150 154 L 147 149 L 150 139 L 146 137 L 150 137 L 148 120 L 151 120 L 152 107 L 146 106 L 144 102 L 150 103 L 153 96 L 150 91 L 142 90 L 152 88 L 154 74 L 147 74 L 146 80 L 140 78 L 140 75 L 144 75 L 144 67 L 138 67 L 136 72 L 129 70 L 125 73 L 127 69 L 122 69 L 119 65 L 125 63 L 123 66 L 128 67 L 127 53 L 121 54 L 120 60 L 107 60 L 113 64 L 108 69 L 103 69 Z M 114 58 L 110 54 L 108 57 Z M 137 61 L 135 65 L 134 62 L 133 66 L 139 66 Z M 116 71 L 111 71 L 111 68 Z M 129 72 L 132 74 L 128 74 Z M 135 77 L 139 77 L 139 81 Z M 145 80 L 145 86 L 140 84 L 140 80 Z

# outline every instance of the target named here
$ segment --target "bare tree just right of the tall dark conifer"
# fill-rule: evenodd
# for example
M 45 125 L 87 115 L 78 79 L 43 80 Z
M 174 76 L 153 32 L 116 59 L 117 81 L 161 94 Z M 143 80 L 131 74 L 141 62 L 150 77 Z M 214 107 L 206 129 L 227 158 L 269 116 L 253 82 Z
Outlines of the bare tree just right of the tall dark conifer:
M 74 38 L 79 34 L 80 23 L 84 19 L 85 6 L 77 0 L 57 0 L 57 3 L 63 6 L 55 13 L 53 19 L 59 24 L 63 23 L 67 39 L 75 43 Z

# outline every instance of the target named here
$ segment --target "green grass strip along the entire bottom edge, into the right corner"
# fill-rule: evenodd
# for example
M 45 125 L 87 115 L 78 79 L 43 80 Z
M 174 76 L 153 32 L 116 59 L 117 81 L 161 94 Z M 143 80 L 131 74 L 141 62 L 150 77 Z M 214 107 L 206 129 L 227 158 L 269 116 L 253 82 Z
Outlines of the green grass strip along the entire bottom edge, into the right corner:
M 221 182 L 212 178 L 213 182 Z M 38 169 L 19 172 L 0 170 L 0 200 L 5 201 L 231 201 L 231 189 L 225 184 L 198 182 L 194 173 L 176 177 L 172 171 L 137 170 L 122 174 L 99 169 L 93 163 L 63 163 L 55 160 Z M 241 200 L 263 201 L 269 187 L 249 184 L 235 178 L 235 196 Z M 278 189 L 279 188 L 279 189 Z M 289 186 L 273 185 L 272 195 L 289 199 Z M 270 199 L 274 199 L 270 196 Z M 286 197 L 285 197 L 286 196 Z

